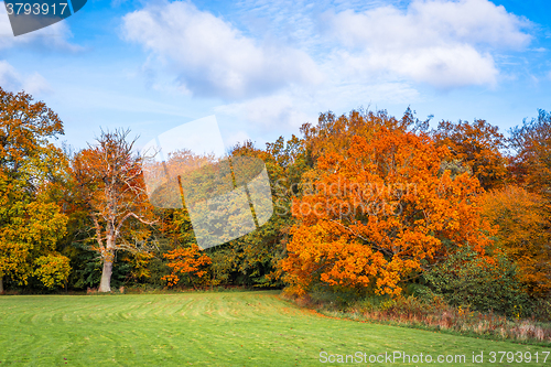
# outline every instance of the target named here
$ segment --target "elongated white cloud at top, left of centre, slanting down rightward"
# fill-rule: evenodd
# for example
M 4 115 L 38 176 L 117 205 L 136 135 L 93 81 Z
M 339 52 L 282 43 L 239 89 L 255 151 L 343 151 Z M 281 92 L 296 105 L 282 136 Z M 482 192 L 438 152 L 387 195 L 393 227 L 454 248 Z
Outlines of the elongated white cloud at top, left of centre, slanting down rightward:
M 194 95 L 238 99 L 321 80 L 303 51 L 259 42 L 192 3 L 147 7 L 123 18 L 123 35 L 179 75 Z

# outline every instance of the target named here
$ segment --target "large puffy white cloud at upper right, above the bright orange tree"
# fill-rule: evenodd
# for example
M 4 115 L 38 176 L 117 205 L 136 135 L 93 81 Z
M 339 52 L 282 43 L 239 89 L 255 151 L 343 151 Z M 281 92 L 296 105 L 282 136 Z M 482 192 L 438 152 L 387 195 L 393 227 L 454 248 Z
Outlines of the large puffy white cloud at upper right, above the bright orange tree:
M 521 50 L 530 42 L 527 20 L 488 0 L 414 0 L 402 11 L 325 13 L 332 34 L 357 73 L 398 75 L 437 88 L 495 85 L 491 51 Z

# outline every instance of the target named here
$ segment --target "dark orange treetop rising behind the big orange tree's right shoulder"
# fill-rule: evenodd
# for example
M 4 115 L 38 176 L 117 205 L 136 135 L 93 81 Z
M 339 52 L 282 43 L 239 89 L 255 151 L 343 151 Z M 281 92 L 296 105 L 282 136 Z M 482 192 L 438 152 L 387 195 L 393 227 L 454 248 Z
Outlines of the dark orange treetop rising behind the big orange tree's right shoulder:
M 441 121 L 433 138 L 439 147 L 446 147 L 451 159 L 472 171 L 485 188 L 504 184 L 507 176 L 507 160 L 501 153 L 506 148 L 505 137 L 496 126 L 486 120 Z

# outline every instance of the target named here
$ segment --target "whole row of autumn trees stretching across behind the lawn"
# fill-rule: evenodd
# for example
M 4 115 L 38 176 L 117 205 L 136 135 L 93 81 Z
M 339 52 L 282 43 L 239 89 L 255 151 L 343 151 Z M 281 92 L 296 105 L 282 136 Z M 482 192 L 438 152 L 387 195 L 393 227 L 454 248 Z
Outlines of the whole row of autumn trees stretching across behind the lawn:
M 504 314 L 549 307 L 543 110 L 507 138 L 485 120 L 431 128 L 408 108 L 400 119 L 326 112 L 300 137 L 238 144 L 230 158 L 264 162 L 274 213 L 206 250 L 185 207 L 151 205 L 129 131 L 71 152 L 53 144 L 63 125 L 43 102 L 0 89 L 0 114 L 2 292 L 246 285 L 440 296 Z

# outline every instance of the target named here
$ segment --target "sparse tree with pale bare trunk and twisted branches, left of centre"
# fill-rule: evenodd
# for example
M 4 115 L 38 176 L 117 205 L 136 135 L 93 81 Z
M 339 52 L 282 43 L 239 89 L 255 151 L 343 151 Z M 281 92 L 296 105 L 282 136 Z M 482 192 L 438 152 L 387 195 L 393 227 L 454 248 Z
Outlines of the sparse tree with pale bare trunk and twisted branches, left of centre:
M 110 292 L 115 255 L 118 250 L 148 252 L 155 223 L 142 176 L 142 158 L 127 141 L 129 130 L 101 132 L 96 145 L 78 152 L 73 177 L 80 203 L 94 233 L 91 249 L 102 261 L 100 292 Z

